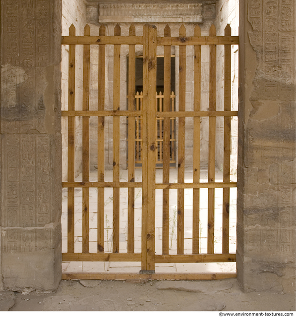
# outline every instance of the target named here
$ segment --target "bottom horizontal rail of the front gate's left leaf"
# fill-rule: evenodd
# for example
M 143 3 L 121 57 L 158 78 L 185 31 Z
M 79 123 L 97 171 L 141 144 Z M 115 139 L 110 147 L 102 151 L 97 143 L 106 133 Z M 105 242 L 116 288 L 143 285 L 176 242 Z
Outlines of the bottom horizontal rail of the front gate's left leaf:
M 141 262 L 140 253 L 62 253 L 62 261 Z

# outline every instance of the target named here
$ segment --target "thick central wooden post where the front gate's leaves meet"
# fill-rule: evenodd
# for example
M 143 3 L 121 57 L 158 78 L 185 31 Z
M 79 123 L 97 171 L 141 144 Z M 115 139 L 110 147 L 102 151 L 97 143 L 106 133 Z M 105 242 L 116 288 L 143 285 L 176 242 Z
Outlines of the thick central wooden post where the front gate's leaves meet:
M 156 27 L 143 29 L 142 272 L 155 269 Z M 146 77 L 146 78 L 145 78 Z M 145 149 L 145 151 L 144 151 Z M 146 223 L 146 225 L 145 225 Z

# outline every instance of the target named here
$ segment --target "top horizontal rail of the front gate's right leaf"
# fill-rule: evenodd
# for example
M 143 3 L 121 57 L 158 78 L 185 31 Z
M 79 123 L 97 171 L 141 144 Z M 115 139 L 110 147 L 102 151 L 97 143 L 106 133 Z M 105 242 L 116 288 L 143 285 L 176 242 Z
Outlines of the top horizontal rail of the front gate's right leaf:
M 160 37 L 157 45 L 238 45 L 238 36 Z

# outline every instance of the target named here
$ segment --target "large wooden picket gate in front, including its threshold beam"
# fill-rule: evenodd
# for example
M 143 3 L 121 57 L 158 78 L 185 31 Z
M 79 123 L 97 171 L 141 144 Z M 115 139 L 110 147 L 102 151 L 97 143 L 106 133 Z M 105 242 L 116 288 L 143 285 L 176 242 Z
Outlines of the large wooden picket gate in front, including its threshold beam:
M 185 27 L 179 29 L 178 37 L 171 37 L 169 26 L 165 28 L 165 36 L 157 37 L 157 29 L 152 25 L 144 25 L 143 35 L 136 36 L 135 27 L 129 28 L 129 36 L 120 36 L 120 27 L 115 27 L 114 36 L 106 36 L 105 27 L 100 27 L 99 36 L 90 36 L 90 28 L 86 25 L 84 36 L 75 36 L 75 28 L 69 29 L 69 36 L 62 37 L 62 45 L 69 45 L 69 92 L 68 110 L 62 111 L 62 116 L 68 117 L 68 180 L 62 183 L 67 188 L 67 252 L 62 254 L 63 261 L 104 261 L 104 262 L 141 262 L 139 274 L 111 274 L 111 273 L 64 273 L 64 279 L 217 279 L 233 277 L 227 274 L 155 274 L 156 263 L 199 263 L 199 262 L 235 262 L 236 254 L 229 252 L 229 206 L 230 188 L 237 183 L 230 182 L 230 149 L 231 149 L 231 116 L 237 116 L 237 111 L 231 111 L 231 45 L 238 45 L 238 37 L 231 36 L 231 28 L 225 29 L 225 36 L 216 36 L 216 29 L 212 25 L 210 36 L 201 36 L 200 28 L 196 26 L 194 36 L 186 37 Z M 75 105 L 75 47 L 83 45 L 83 110 L 76 110 Z M 98 68 L 98 106 L 97 110 L 89 110 L 90 92 L 90 46 L 99 46 Z M 105 68 L 106 46 L 114 48 L 113 74 L 113 110 L 105 109 Z M 128 45 L 128 106 L 127 110 L 120 108 L 120 47 Z M 136 108 L 135 102 L 135 46 L 143 47 L 143 96 L 142 107 Z M 210 47 L 210 76 L 209 76 L 209 110 L 201 111 L 201 46 Z M 225 83 L 224 83 L 224 111 L 216 111 L 216 46 L 225 47 Z M 164 95 L 163 111 L 157 109 L 156 94 L 156 56 L 157 46 L 164 46 Z M 171 108 L 171 48 L 179 47 L 179 82 L 178 82 L 178 111 Z M 194 110 L 185 109 L 185 81 L 186 81 L 186 47 L 194 47 Z M 75 181 L 75 116 L 83 117 L 83 173 L 82 182 Z M 90 181 L 90 146 L 89 120 L 91 116 L 98 119 L 98 176 L 97 181 Z M 105 135 L 104 122 L 107 116 L 113 117 L 113 180 L 105 180 Z M 120 116 L 128 120 L 128 179 L 120 180 L 119 167 L 119 119 Z M 224 117 L 224 166 L 223 182 L 215 181 L 215 145 L 216 145 L 216 117 Z M 135 181 L 135 118 L 141 117 L 141 162 L 142 181 Z M 193 141 L 193 172 L 192 181 L 185 182 L 185 118 L 194 118 Z M 208 182 L 200 182 L 200 124 L 201 117 L 209 117 L 209 155 Z M 158 118 L 163 119 L 162 162 L 163 179 L 156 183 L 156 160 L 160 141 L 156 135 Z M 178 181 L 170 182 L 170 142 L 171 118 L 178 122 Z M 74 250 L 74 189 L 82 188 L 82 252 Z M 97 189 L 97 252 L 90 252 L 89 231 L 89 191 Z M 112 221 L 112 252 L 105 250 L 104 220 L 106 188 L 113 189 L 113 221 Z M 119 190 L 128 189 L 127 212 L 127 249 L 119 249 Z M 135 189 L 142 190 L 141 211 L 141 252 L 135 252 Z M 223 248 L 222 253 L 214 250 L 214 211 L 215 188 L 223 188 Z M 156 190 L 163 191 L 162 211 L 162 252 L 155 253 L 155 218 L 156 218 Z M 170 253 L 170 223 L 169 206 L 170 190 L 178 190 L 177 215 L 177 254 Z M 192 199 L 192 252 L 184 254 L 184 189 L 193 189 Z M 207 252 L 200 253 L 200 189 L 207 189 Z

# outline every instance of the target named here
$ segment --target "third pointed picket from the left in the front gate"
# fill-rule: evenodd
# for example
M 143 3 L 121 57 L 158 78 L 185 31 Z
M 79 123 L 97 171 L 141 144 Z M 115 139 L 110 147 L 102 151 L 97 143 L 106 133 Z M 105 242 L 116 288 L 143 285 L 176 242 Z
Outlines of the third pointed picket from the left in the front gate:
M 106 27 L 100 26 L 100 36 L 106 35 Z M 99 45 L 98 58 L 98 110 L 105 109 L 106 46 Z M 105 181 L 105 117 L 98 117 L 98 182 Z M 104 252 L 105 189 L 98 188 L 98 252 Z

